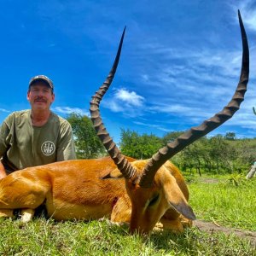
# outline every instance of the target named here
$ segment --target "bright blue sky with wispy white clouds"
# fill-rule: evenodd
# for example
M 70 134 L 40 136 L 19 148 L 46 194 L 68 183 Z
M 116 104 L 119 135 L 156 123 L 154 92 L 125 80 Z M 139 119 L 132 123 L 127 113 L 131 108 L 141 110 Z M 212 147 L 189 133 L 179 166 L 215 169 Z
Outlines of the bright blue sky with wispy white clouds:
M 127 26 L 122 55 L 101 113 L 116 142 L 120 129 L 163 136 L 212 117 L 230 101 L 240 76 L 241 34 L 247 30 L 250 81 L 233 119 L 210 136 L 256 137 L 256 2 L 61 1 L 0 3 L 0 123 L 30 108 L 29 79 L 55 84 L 52 110 L 89 114 L 90 97 L 105 80 Z

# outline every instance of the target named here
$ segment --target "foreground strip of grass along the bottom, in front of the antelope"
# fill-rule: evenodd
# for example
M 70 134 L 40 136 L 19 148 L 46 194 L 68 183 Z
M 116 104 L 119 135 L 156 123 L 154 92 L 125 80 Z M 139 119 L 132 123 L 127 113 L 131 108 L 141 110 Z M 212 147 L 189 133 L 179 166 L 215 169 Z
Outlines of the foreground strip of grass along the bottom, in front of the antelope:
M 0 226 L 0 255 L 253 255 L 248 241 L 195 228 L 182 235 L 165 231 L 131 236 L 126 228 L 106 221 L 55 223 L 38 218 L 20 224 L 2 219 Z

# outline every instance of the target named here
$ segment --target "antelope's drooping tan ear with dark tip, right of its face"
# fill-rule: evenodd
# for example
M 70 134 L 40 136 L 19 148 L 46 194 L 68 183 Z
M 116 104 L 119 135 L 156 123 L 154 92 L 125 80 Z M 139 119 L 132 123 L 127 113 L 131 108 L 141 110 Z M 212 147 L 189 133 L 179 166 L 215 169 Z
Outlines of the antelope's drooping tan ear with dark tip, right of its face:
M 181 213 L 186 218 L 194 220 L 195 213 L 189 206 L 188 201 L 186 201 L 183 192 L 179 189 L 175 178 L 171 174 L 168 176 L 169 177 L 166 178 L 166 182 L 163 185 L 166 193 L 166 200 L 177 212 Z

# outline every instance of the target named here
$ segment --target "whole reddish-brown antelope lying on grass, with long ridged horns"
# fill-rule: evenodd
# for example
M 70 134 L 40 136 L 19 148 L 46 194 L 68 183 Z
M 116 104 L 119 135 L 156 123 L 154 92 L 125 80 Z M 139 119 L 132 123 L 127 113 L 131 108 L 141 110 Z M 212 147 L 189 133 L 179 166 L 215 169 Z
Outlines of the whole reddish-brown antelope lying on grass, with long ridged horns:
M 222 125 L 240 108 L 249 77 L 247 35 L 238 11 L 242 39 L 241 75 L 234 96 L 224 109 L 201 125 L 192 127 L 149 160 L 134 160 L 119 151 L 102 124 L 102 97 L 118 67 L 125 30 L 113 67 L 90 102 L 97 136 L 109 156 L 94 160 L 67 160 L 29 167 L 0 180 L 0 216 L 12 217 L 20 209 L 21 221 L 30 221 L 43 205 L 56 220 L 109 218 L 116 224 L 129 223 L 131 233 L 154 229 L 182 232 L 195 213 L 189 206 L 189 190 L 176 166 L 169 161 L 190 143 Z

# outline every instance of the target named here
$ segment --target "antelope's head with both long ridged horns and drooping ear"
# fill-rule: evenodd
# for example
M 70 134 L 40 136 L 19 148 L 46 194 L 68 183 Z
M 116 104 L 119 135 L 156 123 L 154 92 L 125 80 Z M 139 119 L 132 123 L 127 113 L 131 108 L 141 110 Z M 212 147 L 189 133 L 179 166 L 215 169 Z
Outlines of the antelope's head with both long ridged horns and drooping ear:
M 212 118 L 205 120 L 199 126 L 190 128 L 180 137 L 177 137 L 175 141 L 168 143 L 164 148 L 160 148 L 151 159 L 137 160 L 132 163 L 125 159 L 125 156 L 120 153 L 119 148 L 113 143 L 112 138 L 102 123 L 99 111 L 102 97 L 112 83 L 118 67 L 125 30 L 122 34 L 113 67 L 105 82 L 96 91 L 95 96 L 92 96 L 90 114 L 97 136 L 102 140 L 115 165 L 118 167 L 119 172 L 125 177 L 126 189 L 131 198 L 132 205 L 131 232 L 139 231 L 148 233 L 168 208 L 174 209 L 173 211 L 181 213 L 186 218 L 195 219 L 195 214 L 187 202 L 188 196 L 186 198 L 186 195 L 181 193 L 181 188 L 177 185 L 177 179 L 172 177 L 171 172 L 167 172 L 168 164 L 166 162 L 183 148 L 195 142 L 200 137 L 207 135 L 208 132 L 216 129 L 219 125 L 230 119 L 240 108 L 240 104 L 244 100 L 249 76 L 249 50 L 247 35 L 239 11 L 238 17 L 242 39 L 241 75 L 236 92 L 230 102 Z

